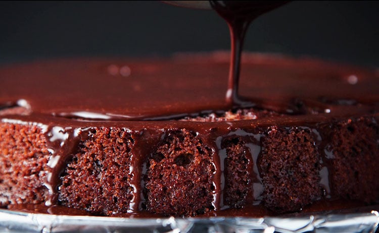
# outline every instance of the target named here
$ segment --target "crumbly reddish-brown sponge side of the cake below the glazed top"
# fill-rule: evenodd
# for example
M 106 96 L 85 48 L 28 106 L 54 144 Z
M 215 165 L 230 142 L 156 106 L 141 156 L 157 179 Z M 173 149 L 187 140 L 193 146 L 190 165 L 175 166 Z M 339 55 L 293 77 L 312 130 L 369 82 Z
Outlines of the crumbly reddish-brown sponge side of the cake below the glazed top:
M 140 140 L 152 134 L 131 132 L 125 128 L 130 122 L 86 127 L 74 153 L 66 155 L 71 158 L 60 173 L 59 201 L 52 204 L 96 215 L 201 216 L 251 205 L 276 214 L 296 212 L 320 199 L 378 203 L 377 119 L 307 126 L 236 121 L 229 122 L 229 130 L 209 134 L 188 122 L 183 128 L 156 129 L 149 145 Z M 207 124 L 217 129 L 220 123 Z M 36 124 L 0 126 L 2 205 L 50 200 L 48 134 Z M 137 153 L 146 146 L 150 154 Z

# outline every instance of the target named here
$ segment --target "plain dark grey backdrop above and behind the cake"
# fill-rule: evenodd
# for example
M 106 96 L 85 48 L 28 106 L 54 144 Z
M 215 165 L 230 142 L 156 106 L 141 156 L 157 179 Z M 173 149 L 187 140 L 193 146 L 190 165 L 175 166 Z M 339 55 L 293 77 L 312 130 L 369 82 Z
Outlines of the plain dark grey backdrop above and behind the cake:
M 378 2 L 291 2 L 250 26 L 245 49 L 379 67 Z M 214 11 L 161 2 L 0 2 L 0 63 L 229 49 Z

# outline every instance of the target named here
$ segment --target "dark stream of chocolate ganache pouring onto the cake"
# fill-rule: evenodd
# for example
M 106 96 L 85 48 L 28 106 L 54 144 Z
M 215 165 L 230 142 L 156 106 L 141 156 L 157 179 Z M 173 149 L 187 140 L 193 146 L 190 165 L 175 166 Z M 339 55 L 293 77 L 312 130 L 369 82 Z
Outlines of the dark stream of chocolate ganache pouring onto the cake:
M 258 16 L 273 10 L 286 1 L 209 1 L 212 8 L 226 20 L 231 40 L 231 57 L 229 68 L 226 102 L 233 107 L 253 106 L 251 101 L 238 95 L 241 69 L 241 53 L 246 31 L 250 23 Z

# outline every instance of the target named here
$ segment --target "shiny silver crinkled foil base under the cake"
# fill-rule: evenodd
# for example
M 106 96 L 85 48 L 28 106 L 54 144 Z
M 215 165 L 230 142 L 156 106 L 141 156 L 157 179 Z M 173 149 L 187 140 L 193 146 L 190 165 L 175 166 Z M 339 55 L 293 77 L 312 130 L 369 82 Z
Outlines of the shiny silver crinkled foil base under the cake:
M 119 218 L 0 210 L 0 232 L 375 232 L 379 213 L 301 217 Z

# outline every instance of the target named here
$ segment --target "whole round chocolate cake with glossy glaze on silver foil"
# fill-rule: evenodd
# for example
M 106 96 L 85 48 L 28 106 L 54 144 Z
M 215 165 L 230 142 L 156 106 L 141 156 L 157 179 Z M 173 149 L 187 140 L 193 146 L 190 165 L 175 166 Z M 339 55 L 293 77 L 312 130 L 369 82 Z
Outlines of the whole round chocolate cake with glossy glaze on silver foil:
M 224 100 L 228 66 L 223 53 L 4 66 L 1 206 L 258 216 L 378 203 L 377 72 L 248 54 L 243 108 Z

